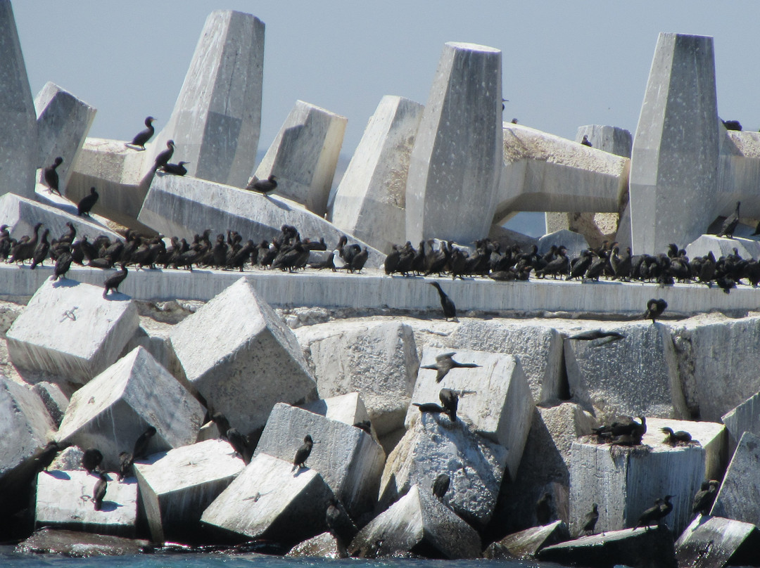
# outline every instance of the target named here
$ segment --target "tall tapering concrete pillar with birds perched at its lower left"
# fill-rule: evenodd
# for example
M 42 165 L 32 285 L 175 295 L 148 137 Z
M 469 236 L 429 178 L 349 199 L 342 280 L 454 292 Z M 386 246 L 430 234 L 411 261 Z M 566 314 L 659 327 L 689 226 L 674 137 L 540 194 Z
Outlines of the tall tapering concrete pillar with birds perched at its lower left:
M 174 140 L 188 175 L 245 188 L 258 149 L 264 22 L 216 10 L 206 18 L 166 127 L 144 152 L 145 169 Z M 134 150 L 133 150 L 134 151 Z

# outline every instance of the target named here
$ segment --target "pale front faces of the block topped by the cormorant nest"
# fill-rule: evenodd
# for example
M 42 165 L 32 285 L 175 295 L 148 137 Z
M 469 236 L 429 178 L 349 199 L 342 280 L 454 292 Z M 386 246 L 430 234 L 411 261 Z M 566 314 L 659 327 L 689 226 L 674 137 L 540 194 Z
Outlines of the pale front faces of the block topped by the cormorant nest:
M 692 500 L 705 479 L 703 447 L 623 447 L 585 440 L 573 443 L 570 459 L 572 535 L 581 532 L 592 502 L 599 504 L 597 532 L 617 531 L 635 527 L 641 513 L 667 494 L 673 495 L 673 511 L 664 522 L 673 534 L 681 534 L 692 519 Z

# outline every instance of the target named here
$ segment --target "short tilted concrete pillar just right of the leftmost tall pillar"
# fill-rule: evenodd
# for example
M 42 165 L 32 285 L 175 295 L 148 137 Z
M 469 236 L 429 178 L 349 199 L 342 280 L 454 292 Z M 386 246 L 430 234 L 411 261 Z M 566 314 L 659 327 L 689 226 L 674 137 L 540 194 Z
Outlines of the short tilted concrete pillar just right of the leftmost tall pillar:
M 63 163 L 55 171 L 58 172 L 61 193 L 65 194 L 68 178 L 97 111 L 52 81 L 37 93 L 34 108 L 40 139 L 36 165 L 45 168 L 61 156 Z

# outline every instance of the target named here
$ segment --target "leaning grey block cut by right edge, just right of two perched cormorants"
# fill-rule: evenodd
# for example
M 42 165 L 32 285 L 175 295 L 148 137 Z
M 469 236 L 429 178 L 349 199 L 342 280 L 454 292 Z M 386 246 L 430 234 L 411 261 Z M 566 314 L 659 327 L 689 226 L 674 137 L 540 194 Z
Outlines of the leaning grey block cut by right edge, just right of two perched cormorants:
M 710 514 L 760 525 L 760 503 L 748 496 L 760 491 L 760 437 L 745 432 L 733 453 Z

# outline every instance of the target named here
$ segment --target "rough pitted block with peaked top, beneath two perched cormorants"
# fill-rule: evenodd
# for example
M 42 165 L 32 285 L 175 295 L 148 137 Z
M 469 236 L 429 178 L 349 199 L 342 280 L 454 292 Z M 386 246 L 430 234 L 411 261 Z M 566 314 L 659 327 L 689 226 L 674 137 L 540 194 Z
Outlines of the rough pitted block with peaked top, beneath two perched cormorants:
M 443 497 L 470 524 L 483 527 L 496 506 L 508 450 L 474 434 L 461 420 L 423 413 L 385 462 L 379 507 L 384 509 L 414 484 L 431 491 L 439 474 L 451 479 Z

